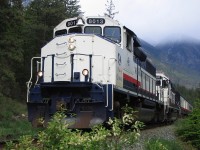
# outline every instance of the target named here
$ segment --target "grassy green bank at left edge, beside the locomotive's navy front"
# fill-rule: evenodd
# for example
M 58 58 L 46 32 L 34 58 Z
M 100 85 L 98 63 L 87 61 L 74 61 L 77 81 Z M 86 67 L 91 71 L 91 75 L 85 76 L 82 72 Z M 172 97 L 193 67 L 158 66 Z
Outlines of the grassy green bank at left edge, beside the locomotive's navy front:
M 0 94 L 0 141 L 34 134 L 27 120 L 26 106 Z

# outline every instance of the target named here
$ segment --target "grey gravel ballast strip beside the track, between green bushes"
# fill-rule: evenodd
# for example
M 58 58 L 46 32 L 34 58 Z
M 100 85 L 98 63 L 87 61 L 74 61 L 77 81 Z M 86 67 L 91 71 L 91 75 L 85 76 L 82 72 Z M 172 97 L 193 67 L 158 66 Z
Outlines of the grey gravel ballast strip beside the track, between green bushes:
M 152 138 L 161 138 L 166 140 L 175 140 L 174 125 L 156 127 L 141 131 L 141 136 L 134 146 L 134 150 L 145 150 L 144 143 Z

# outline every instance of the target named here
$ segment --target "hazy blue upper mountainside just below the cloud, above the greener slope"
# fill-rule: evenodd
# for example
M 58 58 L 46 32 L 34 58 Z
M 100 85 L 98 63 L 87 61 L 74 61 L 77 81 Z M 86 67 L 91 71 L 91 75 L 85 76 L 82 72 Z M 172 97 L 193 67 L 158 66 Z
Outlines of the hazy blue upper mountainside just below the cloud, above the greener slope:
M 200 42 L 174 41 L 156 46 L 160 52 L 160 60 L 177 67 L 188 68 L 200 72 Z

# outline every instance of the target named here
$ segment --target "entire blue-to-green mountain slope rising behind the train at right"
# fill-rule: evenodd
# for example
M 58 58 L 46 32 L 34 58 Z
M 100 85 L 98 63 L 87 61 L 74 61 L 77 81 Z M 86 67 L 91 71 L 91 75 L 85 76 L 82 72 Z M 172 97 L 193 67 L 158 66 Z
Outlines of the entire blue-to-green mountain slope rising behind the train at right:
M 199 86 L 200 41 L 166 41 L 155 47 L 143 40 L 141 43 L 157 70 L 164 71 L 174 83 Z

